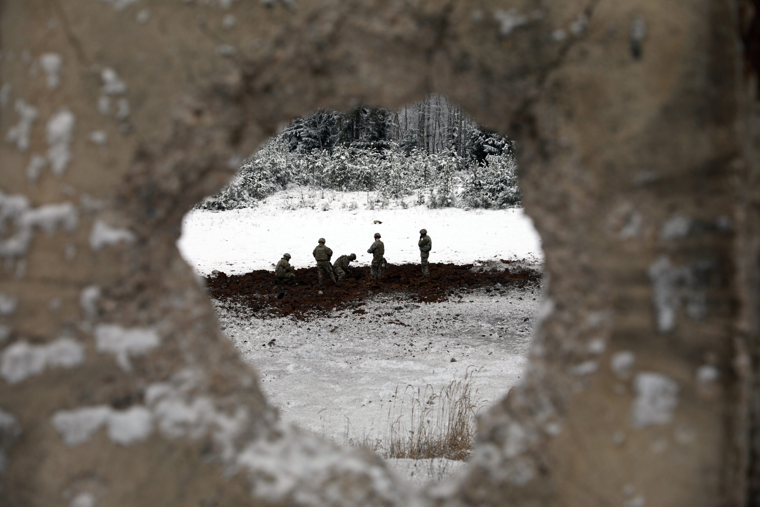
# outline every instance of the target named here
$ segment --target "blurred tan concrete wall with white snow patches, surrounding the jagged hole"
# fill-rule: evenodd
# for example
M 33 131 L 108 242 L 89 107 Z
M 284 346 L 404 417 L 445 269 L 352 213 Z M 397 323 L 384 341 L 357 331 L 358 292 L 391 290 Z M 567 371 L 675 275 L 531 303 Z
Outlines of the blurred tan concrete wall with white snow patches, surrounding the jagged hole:
M 754 3 L 2 0 L 0 504 L 760 505 Z M 413 492 L 278 422 L 174 242 L 282 122 L 430 92 L 518 141 L 549 289 Z

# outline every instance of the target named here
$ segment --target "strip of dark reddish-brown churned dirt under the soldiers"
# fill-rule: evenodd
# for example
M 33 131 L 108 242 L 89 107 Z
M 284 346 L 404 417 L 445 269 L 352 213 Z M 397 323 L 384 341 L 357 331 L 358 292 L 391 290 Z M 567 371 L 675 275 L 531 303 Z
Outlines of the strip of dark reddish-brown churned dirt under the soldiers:
M 511 261 L 502 261 L 510 265 Z M 398 299 L 416 302 L 437 302 L 451 297 L 463 298 L 473 290 L 490 292 L 511 287 L 538 286 L 541 272 L 534 268 L 515 265 L 505 269 L 473 265 L 430 264 L 430 283 L 423 283 L 420 265 L 388 265 L 383 280 L 376 286 L 368 285 L 369 267 L 353 268 L 350 278 L 339 284 L 326 280 L 321 287 L 316 268 L 293 271 L 296 282 L 290 286 L 277 284 L 273 271 L 258 270 L 246 274 L 218 273 L 207 277 L 211 297 L 221 306 L 233 309 L 245 306 L 249 315 L 258 318 L 291 316 L 299 320 L 325 315 L 332 309 L 353 309 L 362 314 L 363 299 L 378 292 L 398 293 Z

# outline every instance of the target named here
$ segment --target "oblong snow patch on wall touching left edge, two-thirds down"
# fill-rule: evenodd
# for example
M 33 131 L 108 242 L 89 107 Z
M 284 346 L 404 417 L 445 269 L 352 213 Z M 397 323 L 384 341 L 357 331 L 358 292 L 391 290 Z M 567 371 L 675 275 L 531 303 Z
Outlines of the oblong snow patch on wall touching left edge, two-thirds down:
M 46 345 L 16 342 L 2 352 L 0 375 L 9 384 L 16 384 L 46 367 L 74 368 L 84 363 L 84 347 L 71 338 L 59 338 Z

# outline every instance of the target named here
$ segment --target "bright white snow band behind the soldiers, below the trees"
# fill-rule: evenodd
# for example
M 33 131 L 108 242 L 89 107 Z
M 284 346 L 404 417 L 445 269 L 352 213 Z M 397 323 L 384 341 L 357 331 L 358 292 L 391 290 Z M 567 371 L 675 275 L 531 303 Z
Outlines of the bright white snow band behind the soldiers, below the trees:
M 324 199 L 312 201 L 314 208 L 287 209 L 296 208 L 291 201 L 297 198 L 293 191 L 283 191 L 258 208 L 191 211 L 182 222 L 179 250 L 201 274 L 214 269 L 241 274 L 272 269 L 285 252 L 293 255 L 290 264 L 296 268 L 315 265 L 312 250 L 317 239 L 324 237 L 335 258 L 353 252 L 359 265 L 369 265 L 372 255 L 366 250 L 374 240 L 372 236 L 381 233 L 385 258 L 403 264 L 420 261 L 417 240 L 420 229 L 425 228 L 433 242 L 430 262 L 543 260 L 540 236 L 521 208 L 464 211 L 410 206 L 372 210 L 362 192 L 325 192 Z M 351 210 L 352 203 L 358 208 Z M 382 223 L 375 224 L 375 220 Z

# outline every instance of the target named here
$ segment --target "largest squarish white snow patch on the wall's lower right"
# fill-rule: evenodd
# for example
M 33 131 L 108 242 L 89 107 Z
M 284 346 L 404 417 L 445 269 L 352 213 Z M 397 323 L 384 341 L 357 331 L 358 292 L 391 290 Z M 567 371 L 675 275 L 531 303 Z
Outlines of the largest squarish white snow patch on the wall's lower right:
M 638 373 L 633 387 L 632 423 L 637 428 L 652 424 L 667 424 L 673 419 L 678 404 L 678 384 L 666 375 L 655 372 Z

